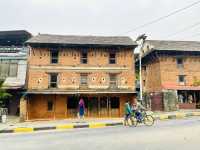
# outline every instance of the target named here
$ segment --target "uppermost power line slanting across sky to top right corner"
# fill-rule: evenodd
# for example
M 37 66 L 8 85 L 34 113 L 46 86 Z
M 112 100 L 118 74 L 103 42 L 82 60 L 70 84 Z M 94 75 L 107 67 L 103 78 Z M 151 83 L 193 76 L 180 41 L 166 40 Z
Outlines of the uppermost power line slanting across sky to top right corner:
M 163 20 L 163 19 L 166 19 L 166 18 L 168 18 L 168 17 L 170 17 L 170 16 L 173 16 L 173 15 L 175 15 L 175 14 L 181 12 L 181 11 L 184 11 L 184 10 L 186 10 L 186 9 L 189 9 L 189 8 L 193 7 L 194 5 L 197 5 L 197 4 L 199 4 L 199 3 L 200 3 L 200 1 L 196 1 L 196 2 L 194 2 L 194 3 L 190 4 L 190 5 L 187 5 L 187 6 L 183 7 L 183 8 L 177 9 L 177 10 L 175 10 L 175 11 L 173 11 L 173 12 L 171 12 L 171 13 L 165 15 L 165 16 L 159 17 L 159 18 L 157 18 L 157 19 L 154 19 L 154 20 L 149 21 L 149 22 L 147 22 L 147 23 L 144 23 L 144 24 L 142 24 L 142 25 L 136 26 L 135 28 L 124 32 L 124 34 L 129 33 L 129 32 L 134 32 L 134 31 L 136 31 L 136 30 L 138 30 L 138 29 L 141 29 L 141 28 L 144 28 L 144 27 L 146 27 L 146 26 L 152 25 L 152 24 L 154 24 L 154 23 L 156 23 L 156 22 L 159 22 L 159 21 L 161 21 L 161 20 Z

